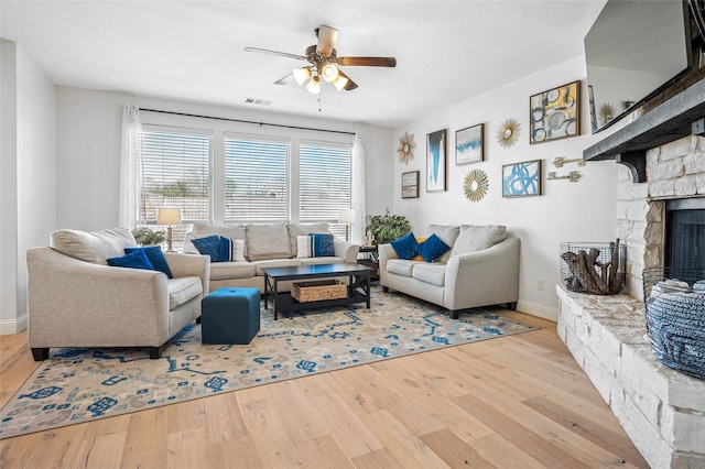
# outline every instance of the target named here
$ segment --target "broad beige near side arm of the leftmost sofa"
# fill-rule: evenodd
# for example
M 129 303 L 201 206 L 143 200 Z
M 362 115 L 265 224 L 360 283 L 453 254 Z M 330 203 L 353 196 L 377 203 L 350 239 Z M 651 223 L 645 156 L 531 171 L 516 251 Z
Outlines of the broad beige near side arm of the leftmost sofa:
M 160 346 L 169 339 L 162 272 L 84 262 L 52 248 L 28 261 L 31 347 Z

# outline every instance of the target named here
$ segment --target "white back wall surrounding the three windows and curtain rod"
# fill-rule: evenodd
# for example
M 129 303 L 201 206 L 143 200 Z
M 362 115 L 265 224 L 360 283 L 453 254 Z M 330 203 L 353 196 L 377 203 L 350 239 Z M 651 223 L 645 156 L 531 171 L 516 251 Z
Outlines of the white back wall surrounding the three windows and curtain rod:
M 59 86 L 56 110 L 58 129 L 56 208 L 57 225 L 61 228 L 98 230 L 118 225 L 121 117 L 122 106 L 126 102 L 135 102 L 143 109 L 345 132 L 359 131 L 366 140 L 366 174 L 370 182 L 366 194 L 368 209 L 372 214 L 383 212 L 386 207 L 392 205 L 392 187 L 387 182 L 392 171 L 393 130 L 391 128 Z M 216 144 L 226 131 L 284 135 L 293 132 L 267 126 L 155 112 L 143 112 L 142 122 L 209 129 L 215 132 Z M 336 134 L 329 135 L 334 138 Z M 351 139 L 349 135 L 346 138 Z M 217 217 L 216 221 L 218 221 Z

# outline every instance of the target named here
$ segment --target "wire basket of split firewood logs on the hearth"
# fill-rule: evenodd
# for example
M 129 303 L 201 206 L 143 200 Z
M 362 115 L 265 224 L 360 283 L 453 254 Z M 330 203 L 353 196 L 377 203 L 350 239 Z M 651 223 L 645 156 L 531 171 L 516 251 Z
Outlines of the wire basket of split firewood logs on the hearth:
M 627 246 L 617 242 L 562 242 L 561 281 L 571 292 L 616 295 L 625 288 Z

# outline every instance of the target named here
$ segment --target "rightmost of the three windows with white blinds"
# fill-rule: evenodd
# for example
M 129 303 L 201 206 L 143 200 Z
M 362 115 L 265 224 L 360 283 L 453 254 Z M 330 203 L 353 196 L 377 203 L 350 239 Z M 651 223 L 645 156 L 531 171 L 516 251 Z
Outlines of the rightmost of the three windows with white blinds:
M 299 159 L 299 219 L 327 221 L 330 230 L 345 237 L 345 227 L 335 226 L 340 209 L 350 208 L 351 159 L 349 145 L 301 142 Z

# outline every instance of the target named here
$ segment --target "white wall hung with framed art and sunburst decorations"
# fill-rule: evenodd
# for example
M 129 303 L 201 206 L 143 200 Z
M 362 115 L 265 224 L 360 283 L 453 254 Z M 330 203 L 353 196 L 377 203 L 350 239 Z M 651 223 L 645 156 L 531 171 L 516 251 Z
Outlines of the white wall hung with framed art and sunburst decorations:
M 583 150 L 603 139 L 592 135 L 585 58 L 576 57 L 558 66 L 525 77 L 476 98 L 460 101 L 423 119 L 408 122 L 394 131 L 394 144 L 404 132 L 413 133 L 416 150 L 408 165 L 394 163 L 393 211 L 409 217 L 417 234 L 429 223 L 506 225 L 521 238 L 520 310 L 557 319 L 557 297 L 554 285 L 558 282 L 558 243 L 562 241 L 610 241 L 616 233 L 617 165 L 609 162 L 589 162 L 585 167 L 570 164 L 555 168 L 557 156 L 582 159 Z M 581 84 L 581 137 L 552 142 L 529 144 L 529 97 L 575 80 Z M 521 135 L 512 148 L 497 143 L 497 131 L 502 121 L 514 118 L 520 122 Z M 455 164 L 455 131 L 485 123 L 485 161 L 468 165 Z M 447 178 L 444 193 L 426 193 L 426 134 L 447 129 Z M 501 168 L 509 163 L 542 160 L 542 196 L 503 198 Z M 465 198 L 463 179 L 473 170 L 482 170 L 489 177 L 489 192 L 478 203 Z M 567 174 L 579 171 L 581 179 L 546 181 L 549 172 Z M 401 173 L 421 172 L 420 198 L 401 198 Z M 545 282 L 538 290 L 540 280 Z

